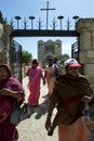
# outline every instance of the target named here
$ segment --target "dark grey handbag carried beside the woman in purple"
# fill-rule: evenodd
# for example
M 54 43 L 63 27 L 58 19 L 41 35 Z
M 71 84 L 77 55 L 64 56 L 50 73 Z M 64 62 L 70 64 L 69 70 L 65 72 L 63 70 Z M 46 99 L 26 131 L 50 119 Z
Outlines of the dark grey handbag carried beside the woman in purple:
M 30 107 L 27 103 L 15 103 L 11 113 L 11 124 L 17 126 L 21 121 L 30 117 Z

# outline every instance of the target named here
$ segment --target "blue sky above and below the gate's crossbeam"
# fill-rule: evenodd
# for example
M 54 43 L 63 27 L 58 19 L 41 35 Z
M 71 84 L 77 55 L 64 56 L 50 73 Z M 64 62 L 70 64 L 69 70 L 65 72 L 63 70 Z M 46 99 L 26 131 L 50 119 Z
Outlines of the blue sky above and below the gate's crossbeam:
M 39 20 L 41 22 L 41 29 L 46 28 L 46 11 L 41 11 L 41 9 L 46 9 L 46 2 L 49 2 L 49 9 L 55 9 L 49 11 L 48 18 L 48 29 L 53 29 L 52 24 L 55 20 L 55 29 L 61 28 L 59 15 L 63 15 L 62 29 L 67 29 L 67 22 L 69 20 L 70 29 L 75 29 L 75 20 L 72 16 L 78 15 L 80 18 L 91 18 L 94 17 L 94 0 L 0 0 L 0 11 L 3 17 L 6 17 L 8 23 L 13 21 L 14 29 L 17 28 L 17 21 L 15 16 L 18 15 L 22 18 L 18 22 L 18 28 L 24 28 L 24 20 L 27 21 L 27 29 L 31 29 L 31 21 L 29 16 L 35 16 L 33 29 L 38 29 Z M 71 54 L 70 46 L 75 43 L 76 37 L 22 37 L 14 38 L 19 44 L 22 44 L 23 50 L 28 51 L 32 54 L 32 57 L 38 57 L 37 42 L 42 39 L 46 41 L 52 39 L 62 40 L 62 54 Z

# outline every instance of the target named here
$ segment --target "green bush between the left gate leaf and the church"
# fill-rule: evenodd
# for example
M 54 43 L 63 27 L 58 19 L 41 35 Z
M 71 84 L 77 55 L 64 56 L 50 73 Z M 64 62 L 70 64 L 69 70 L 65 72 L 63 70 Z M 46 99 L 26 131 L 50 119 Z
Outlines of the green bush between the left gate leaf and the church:
M 22 51 L 22 63 L 25 63 L 28 65 L 32 61 L 32 54 L 29 53 L 28 51 Z

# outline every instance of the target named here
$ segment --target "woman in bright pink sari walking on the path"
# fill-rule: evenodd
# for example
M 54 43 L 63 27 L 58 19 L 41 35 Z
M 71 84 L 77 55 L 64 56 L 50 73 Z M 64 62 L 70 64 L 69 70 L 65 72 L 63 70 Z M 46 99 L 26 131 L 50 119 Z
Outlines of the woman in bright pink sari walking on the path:
M 43 80 L 43 84 L 45 84 L 42 75 L 43 69 L 38 64 L 39 62 L 37 59 L 32 60 L 32 65 L 27 69 L 26 73 L 29 77 L 28 89 L 30 94 L 28 98 L 28 104 L 30 106 L 39 105 L 41 78 Z

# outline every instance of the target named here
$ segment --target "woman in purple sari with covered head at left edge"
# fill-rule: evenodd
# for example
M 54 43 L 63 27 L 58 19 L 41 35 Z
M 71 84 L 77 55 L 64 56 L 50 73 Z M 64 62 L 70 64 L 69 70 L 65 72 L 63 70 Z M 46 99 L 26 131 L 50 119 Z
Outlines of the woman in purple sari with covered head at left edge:
M 15 102 L 23 102 L 24 95 L 21 82 L 12 77 L 10 65 L 0 65 L 0 141 L 18 139 L 17 129 L 10 118 Z

